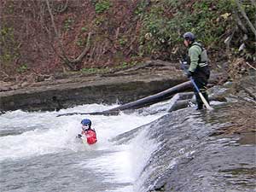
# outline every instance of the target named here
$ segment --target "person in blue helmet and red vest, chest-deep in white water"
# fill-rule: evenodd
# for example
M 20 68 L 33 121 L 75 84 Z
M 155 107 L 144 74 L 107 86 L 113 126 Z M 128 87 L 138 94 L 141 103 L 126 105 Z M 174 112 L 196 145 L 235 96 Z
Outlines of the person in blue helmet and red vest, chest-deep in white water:
M 94 144 L 97 142 L 96 138 L 96 131 L 91 127 L 91 121 L 90 119 L 83 119 L 81 121 L 82 124 L 82 132 L 79 134 L 79 137 L 82 137 L 83 135 L 87 138 L 88 144 Z

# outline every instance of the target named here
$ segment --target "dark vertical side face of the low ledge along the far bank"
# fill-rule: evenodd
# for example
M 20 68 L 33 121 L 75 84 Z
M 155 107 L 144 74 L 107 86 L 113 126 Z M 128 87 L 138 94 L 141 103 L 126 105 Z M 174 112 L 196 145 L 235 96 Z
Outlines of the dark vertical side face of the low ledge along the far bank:
M 1 111 L 15 109 L 55 110 L 69 108 L 84 103 L 131 102 L 160 92 L 181 83 L 181 80 L 151 82 L 130 82 L 115 84 L 73 84 L 73 87 L 45 87 L 32 90 L 19 90 L 14 94 L 1 93 Z

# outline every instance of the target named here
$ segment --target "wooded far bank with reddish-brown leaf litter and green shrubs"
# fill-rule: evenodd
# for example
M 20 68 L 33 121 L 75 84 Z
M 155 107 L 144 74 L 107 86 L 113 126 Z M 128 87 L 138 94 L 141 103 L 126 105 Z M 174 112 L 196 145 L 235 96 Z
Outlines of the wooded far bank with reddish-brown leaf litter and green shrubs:
M 177 61 L 194 32 L 212 64 L 256 61 L 253 0 L 3 0 L 1 77 Z M 246 65 L 247 66 L 247 65 Z M 248 66 L 247 66 L 248 67 Z M 253 66 L 255 67 L 255 66 Z M 240 69 L 238 69 L 240 70 Z

